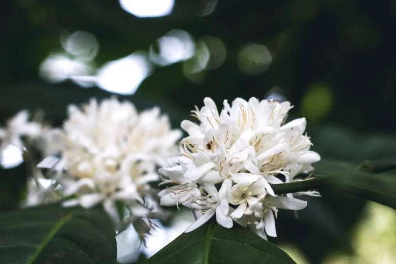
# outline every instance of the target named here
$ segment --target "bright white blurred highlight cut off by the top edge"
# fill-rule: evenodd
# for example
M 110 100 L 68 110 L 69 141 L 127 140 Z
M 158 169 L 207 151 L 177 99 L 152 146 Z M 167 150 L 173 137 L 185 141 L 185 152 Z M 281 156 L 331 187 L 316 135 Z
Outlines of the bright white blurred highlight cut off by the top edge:
M 119 0 L 121 8 L 137 17 L 161 17 L 172 13 L 174 0 Z

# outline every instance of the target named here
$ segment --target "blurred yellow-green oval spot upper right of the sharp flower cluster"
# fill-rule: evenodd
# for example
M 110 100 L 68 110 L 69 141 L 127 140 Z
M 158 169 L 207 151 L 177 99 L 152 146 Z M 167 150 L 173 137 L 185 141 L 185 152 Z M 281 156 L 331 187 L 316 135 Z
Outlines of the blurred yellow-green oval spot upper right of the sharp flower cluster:
M 333 109 L 333 90 L 325 83 L 313 83 L 301 103 L 301 112 L 307 119 L 320 120 Z

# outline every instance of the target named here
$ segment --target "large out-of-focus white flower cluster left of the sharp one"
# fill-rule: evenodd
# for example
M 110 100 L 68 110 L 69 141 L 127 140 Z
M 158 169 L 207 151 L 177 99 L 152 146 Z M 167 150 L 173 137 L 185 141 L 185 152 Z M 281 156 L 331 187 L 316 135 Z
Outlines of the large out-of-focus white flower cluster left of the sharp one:
M 115 201 L 122 201 L 134 217 L 147 216 L 152 208 L 145 206 L 145 198 L 155 193 L 148 183 L 159 179 L 156 167 L 177 153 L 181 131 L 172 130 L 158 108 L 138 113 L 134 105 L 114 97 L 68 110 L 64 148 L 55 168 L 61 172 L 57 181 L 63 194 L 76 197 L 63 205 L 103 203 L 118 223 Z

